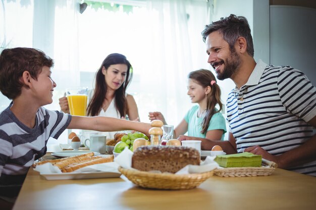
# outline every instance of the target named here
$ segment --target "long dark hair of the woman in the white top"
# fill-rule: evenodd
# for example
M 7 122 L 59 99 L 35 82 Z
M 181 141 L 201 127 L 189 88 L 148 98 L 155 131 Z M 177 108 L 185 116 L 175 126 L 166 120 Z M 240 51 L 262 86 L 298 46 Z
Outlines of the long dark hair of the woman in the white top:
M 104 75 L 102 74 L 102 67 L 108 69 L 110 65 L 115 64 L 126 64 L 127 65 L 127 73 L 126 73 L 126 80 L 122 84 L 122 86 L 115 91 L 115 107 L 119 111 L 121 117 L 126 115 L 128 111 L 127 100 L 125 91 L 132 80 L 133 76 L 133 68 L 130 62 L 126 59 L 125 55 L 119 53 L 112 53 L 103 60 L 100 68 L 96 72 L 95 75 L 95 88 L 94 94 L 89 102 L 87 108 L 87 115 L 88 116 L 96 116 L 99 114 L 104 99 L 106 98 L 106 93 L 108 90 L 108 86 L 106 81 L 104 80 Z

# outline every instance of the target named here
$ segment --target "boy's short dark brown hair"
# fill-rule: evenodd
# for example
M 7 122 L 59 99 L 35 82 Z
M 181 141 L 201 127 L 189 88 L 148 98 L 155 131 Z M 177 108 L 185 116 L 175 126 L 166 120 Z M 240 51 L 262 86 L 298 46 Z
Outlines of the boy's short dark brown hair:
M 52 67 L 54 61 L 44 52 L 34 49 L 17 47 L 4 49 L 0 54 L 0 91 L 9 99 L 21 94 L 23 72 L 28 71 L 37 80 L 43 66 Z

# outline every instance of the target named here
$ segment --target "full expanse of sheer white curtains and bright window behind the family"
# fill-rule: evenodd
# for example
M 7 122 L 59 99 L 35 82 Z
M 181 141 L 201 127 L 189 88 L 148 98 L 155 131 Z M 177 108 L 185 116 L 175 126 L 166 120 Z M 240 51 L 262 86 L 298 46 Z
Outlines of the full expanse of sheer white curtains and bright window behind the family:
M 210 69 L 200 35 L 210 22 L 210 4 L 202 0 L 115 3 L 134 7 L 125 12 L 121 6 L 117 11 L 88 6 L 80 14 L 79 1 L 74 0 L 3 0 L 5 18 L 0 28 L 6 30 L 0 33 L 0 43 L 5 48 L 38 48 L 54 59 L 57 88 L 54 102 L 46 106 L 53 110 L 59 110 L 58 99 L 67 87 L 92 88 L 102 60 L 110 53 L 122 53 L 133 65 L 127 92 L 134 95 L 141 121 L 149 122 L 149 111 L 161 111 L 176 126 L 192 106 L 186 95 L 188 73 Z M 0 111 L 9 102 L 0 94 Z M 61 138 L 67 140 L 66 135 Z

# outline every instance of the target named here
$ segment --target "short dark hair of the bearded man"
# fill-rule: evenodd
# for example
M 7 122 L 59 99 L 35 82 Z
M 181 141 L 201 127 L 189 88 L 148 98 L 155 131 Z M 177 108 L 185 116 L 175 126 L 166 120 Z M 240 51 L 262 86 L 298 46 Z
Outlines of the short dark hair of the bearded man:
M 221 18 L 219 21 L 206 25 L 202 31 L 203 41 L 205 42 L 206 37 L 215 31 L 223 34 L 223 38 L 229 44 L 230 49 L 234 48 L 239 37 L 244 37 L 247 41 L 247 53 L 253 57 L 254 50 L 251 30 L 245 17 L 230 15 L 229 17 Z

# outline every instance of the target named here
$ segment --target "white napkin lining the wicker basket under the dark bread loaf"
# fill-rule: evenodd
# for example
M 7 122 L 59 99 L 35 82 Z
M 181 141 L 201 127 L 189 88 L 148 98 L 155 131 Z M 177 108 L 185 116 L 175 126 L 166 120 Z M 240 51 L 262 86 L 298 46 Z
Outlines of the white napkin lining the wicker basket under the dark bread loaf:
M 123 168 L 133 169 L 132 156 L 133 156 L 133 152 L 125 148 L 123 152 L 120 153 L 120 155 L 118 155 L 114 159 L 114 161 Z M 180 169 L 176 174 L 193 174 L 193 173 L 204 173 L 207 171 L 212 171 L 219 166 L 219 164 L 215 162 L 214 159 L 215 159 L 215 156 L 214 157 L 207 156 L 205 161 L 201 162 L 199 166 L 187 165 L 184 168 Z M 157 173 L 157 171 L 152 171 L 152 172 Z

